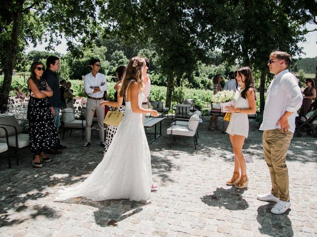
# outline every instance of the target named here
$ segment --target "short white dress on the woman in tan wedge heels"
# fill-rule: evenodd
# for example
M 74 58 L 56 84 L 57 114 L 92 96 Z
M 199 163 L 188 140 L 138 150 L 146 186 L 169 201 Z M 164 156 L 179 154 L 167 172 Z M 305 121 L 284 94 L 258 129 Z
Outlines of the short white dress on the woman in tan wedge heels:
M 248 100 L 241 97 L 241 92 L 243 90 L 244 89 L 238 88 L 238 90 L 236 91 L 235 98 L 233 100 L 234 106 L 239 109 L 249 109 L 250 106 Z M 247 138 L 249 134 L 248 115 L 232 113 L 226 132 L 231 135 L 240 135 Z

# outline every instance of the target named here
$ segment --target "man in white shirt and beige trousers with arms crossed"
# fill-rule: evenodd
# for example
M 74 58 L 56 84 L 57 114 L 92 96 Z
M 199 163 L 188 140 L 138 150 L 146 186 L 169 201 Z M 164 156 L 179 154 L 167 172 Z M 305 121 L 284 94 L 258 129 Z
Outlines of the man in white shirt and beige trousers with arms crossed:
M 104 101 L 104 92 L 107 89 L 107 81 L 104 74 L 98 73 L 100 70 L 100 60 L 90 60 L 91 73 L 87 74 L 84 78 L 85 92 L 87 93 L 86 103 L 86 142 L 82 149 L 87 149 L 91 137 L 91 124 L 96 111 L 99 127 L 100 145 L 105 147 L 105 109 L 100 107 L 99 104 Z

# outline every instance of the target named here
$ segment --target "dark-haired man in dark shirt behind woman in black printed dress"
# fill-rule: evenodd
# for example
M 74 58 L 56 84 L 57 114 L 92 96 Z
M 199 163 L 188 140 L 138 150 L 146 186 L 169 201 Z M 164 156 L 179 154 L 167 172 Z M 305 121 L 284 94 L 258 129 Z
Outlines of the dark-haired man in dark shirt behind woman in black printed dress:
M 48 85 L 53 90 L 53 96 L 49 97 L 51 104 L 51 111 L 53 114 L 54 122 L 58 132 L 60 126 L 59 108 L 66 107 L 66 105 L 60 99 L 60 89 L 58 79 L 56 78 L 56 71 L 59 69 L 59 58 L 55 56 L 49 56 L 46 60 L 47 69 L 43 73 L 43 79 L 45 79 Z M 65 149 L 65 146 L 60 146 L 55 149 Z

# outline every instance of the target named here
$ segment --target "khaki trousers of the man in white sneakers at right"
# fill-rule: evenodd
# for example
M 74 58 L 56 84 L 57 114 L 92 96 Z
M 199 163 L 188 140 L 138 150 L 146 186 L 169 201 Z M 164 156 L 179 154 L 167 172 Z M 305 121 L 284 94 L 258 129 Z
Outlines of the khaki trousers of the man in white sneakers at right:
M 263 132 L 264 159 L 271 176 L 271 193 L 282 201 L 290 199 L 286 154 L 293 134 L 282 133 L 278 128 Z

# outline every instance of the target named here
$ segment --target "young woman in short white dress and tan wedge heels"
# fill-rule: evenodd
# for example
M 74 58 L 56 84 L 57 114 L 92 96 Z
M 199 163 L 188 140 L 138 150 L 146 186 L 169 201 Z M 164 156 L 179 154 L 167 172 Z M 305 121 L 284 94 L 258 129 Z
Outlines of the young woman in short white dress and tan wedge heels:
M 238 69 L 235 72 L 235 76 L 237 84 L 240 84 L 240 88 L 237 88 L 234 105 L 226 106 L 228 111 L 232 112 L 226 132 L 229 133 L 235 157 L 233 175 L 227 181 L 227 185 L 234 185 L 237 189 L 244 189 L 248 187 L 249 178 L 247 176 L 246 160 L 242 154 L 242 147 L 249 133 L 248 114 L 255 114 L 257 111 L 256 90 L 249 67 Z

